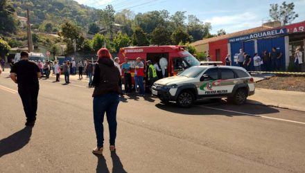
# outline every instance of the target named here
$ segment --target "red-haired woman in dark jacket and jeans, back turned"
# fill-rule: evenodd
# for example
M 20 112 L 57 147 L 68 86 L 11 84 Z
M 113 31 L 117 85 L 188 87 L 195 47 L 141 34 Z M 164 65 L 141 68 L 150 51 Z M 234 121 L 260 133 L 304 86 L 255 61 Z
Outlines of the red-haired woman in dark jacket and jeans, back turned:
M 110 151 L 114 152 L 116 140 L 116 111 L 119 105 L 119 79 L 121 78 L 119 70 L 114 66 L 111 55 L 107 48 L 101 48 L 98 51 L 98 62 L 94 69 L 94 92 L 93 114 L 94 128 L 96 131 L 96 148 L 92 150 L 94 154 L 103 154 L 104 127 L 103 120 L 106 113 L 109 133 L 110 133 Z

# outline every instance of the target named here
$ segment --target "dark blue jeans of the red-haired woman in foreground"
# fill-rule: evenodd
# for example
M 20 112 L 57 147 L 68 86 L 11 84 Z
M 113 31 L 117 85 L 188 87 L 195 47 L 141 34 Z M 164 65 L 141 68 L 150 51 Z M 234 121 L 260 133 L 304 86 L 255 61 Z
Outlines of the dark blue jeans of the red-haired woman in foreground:
M 117 93 L 106 93 L 96 96 L 93 99 L 94 128 L 98 148 L 103 147 L 104 143 L 103 122 L 105 112 L 110 133 L 110 145 L 115 145 L 117 125 L 116 110 L 118 109 L 119 102 L 119 95 Z

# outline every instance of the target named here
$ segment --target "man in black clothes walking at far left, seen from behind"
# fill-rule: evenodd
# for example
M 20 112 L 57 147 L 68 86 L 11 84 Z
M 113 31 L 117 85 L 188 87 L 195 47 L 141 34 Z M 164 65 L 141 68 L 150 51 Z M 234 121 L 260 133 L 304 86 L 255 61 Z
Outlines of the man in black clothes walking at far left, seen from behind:
M 40 89 L 38 78 L 42 75 L 37 64 L 28 60 L 27 52 L 21 52 L 20 56 L 20 61 L 12 66 L 10 78 L 18 84 L 18 93 L 26 113 L 26 126 L 34 126 Z

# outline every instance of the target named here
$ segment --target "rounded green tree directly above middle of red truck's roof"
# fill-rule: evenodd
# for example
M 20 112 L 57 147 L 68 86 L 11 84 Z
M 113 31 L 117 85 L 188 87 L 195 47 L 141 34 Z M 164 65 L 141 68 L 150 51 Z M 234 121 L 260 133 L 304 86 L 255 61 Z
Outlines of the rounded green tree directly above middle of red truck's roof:
M 157 45 L 171 44 L 171 33 L 164 27 L 158 26 L 151 34 L 151 43 Z

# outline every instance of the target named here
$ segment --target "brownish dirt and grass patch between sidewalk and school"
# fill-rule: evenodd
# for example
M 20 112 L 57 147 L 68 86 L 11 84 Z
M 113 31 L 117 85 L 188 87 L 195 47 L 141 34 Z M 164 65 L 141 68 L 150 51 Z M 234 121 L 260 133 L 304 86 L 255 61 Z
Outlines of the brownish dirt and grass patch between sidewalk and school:
M 286 91 L 302 91 L 305 92 L 305 76 L 275 76 L 269 80 L 263 80 L 256 83 L 256 87 L 263 89 L 277 89 Z

